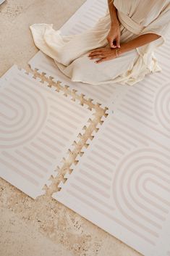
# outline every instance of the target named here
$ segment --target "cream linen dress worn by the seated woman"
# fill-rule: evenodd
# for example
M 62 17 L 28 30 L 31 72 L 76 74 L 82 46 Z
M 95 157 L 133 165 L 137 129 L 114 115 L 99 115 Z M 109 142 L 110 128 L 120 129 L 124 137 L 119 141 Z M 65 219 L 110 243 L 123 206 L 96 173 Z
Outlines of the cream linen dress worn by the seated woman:
M 59 70 L 75 82 L 93 85 L 127 83 L 132 86 L 145 75 L 161 71 L 154 50 L 166 41 L 170 28 L 170 1 L 115 0 L 114 6 L 120 24 L 120 43 L 145 33 L 156 33 L 161 37 L 115 59 L 96 64 L 97 59 L 90 59 L 88 54 L 92 49 L 109 47 L 106 37 L 111 19 L 107 8 L 93 28 L 77 35 L 61 35 L 61 30 L 54 30 L 52 24 L 31 25 L 35 45 L 53 58 Z

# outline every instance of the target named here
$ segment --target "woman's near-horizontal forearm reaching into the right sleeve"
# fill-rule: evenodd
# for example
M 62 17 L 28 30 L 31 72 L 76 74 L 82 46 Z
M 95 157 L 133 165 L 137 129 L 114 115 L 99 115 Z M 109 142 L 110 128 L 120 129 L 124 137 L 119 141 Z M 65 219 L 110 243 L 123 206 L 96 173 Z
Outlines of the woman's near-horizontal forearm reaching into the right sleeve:
M 160 38 L 161 36 L 158 36 L 155 33 L 147 33 L 141 36 L 138 36 L 137 38 L 121 44 L 121 48 L 119 49 L 120 54 L 124 54 L 126 51 L 131 51 L 132 49 L 135 49 L 137 47 L 143 46 L 145 44 L 150 43 L 151 41 L 155 41 L 156 39 Z

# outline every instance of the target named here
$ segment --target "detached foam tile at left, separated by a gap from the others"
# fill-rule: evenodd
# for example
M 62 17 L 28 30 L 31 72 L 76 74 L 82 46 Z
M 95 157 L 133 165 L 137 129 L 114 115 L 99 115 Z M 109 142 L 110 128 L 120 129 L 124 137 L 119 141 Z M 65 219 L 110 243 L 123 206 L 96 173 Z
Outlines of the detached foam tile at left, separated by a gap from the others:
M 93 117 L 55 90 L 16 66 L 0 79 L 0 176 L 33 198 Z

